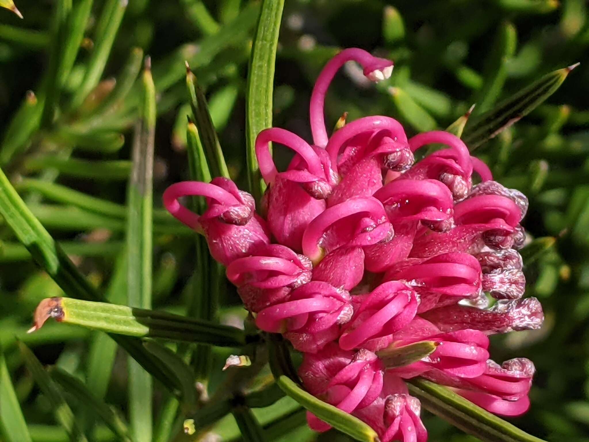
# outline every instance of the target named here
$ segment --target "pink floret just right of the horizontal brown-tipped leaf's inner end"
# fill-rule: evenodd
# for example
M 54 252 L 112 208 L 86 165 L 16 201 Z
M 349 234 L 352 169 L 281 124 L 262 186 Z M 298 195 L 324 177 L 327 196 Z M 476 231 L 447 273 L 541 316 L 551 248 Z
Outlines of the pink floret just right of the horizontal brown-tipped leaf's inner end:
M 315 353 L 337 339 L 341 324 L 352 318 L 350 295 L 326 282 L 312 281 L 290 292 L 286 302 L 256 316 L 258 328 L 283 333 L 299 351 Z

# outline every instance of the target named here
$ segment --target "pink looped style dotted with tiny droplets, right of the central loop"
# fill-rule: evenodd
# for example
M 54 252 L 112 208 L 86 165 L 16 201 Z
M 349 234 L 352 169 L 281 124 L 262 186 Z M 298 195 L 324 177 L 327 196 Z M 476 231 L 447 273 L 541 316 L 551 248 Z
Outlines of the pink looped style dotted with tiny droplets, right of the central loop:
M 383 203 L 392 223 L 448 220 L 454 206 L 448 187 L 437 180 L 393 180 L 374 197 Z

